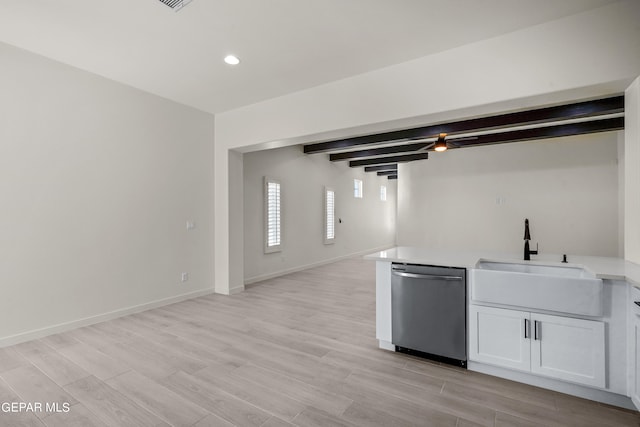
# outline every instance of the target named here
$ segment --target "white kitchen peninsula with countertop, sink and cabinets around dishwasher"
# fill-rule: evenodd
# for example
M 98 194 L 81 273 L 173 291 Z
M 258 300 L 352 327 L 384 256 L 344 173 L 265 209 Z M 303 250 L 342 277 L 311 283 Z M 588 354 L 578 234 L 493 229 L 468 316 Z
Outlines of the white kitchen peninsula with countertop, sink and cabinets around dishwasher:
M 563 263 L 563 254 L 543 253 L 523 261 L 515 253 L 419 247 L 395 247 L 365 258 L 376 261 L 380 348 L 432 356 L 397 344 L 393 319 L 399 313 L 394 317 L 393 311 L 401 306 L 393 300 L 404 291 L 394 274 L 411 276 L 405 273 L 410 265 L 465 269 L 466 298 L 460 303 L 466 308 L 469 370 L 622 407 L 640 405 L 640 307 L 634 304 L 640 301 L 640 266 L 613 257 L 567 254 Z M 446 277 L 440 271 L 438 277 Z M 555 288 L 546 286 L 552 279 Z M 413 280 L 419 286 L 417 277 Z M 491 285 L 500 280 L 504 283 L 496 293 Z M 531 295 L 540 296 L 540 303 L 510 299 L 510 284 L 514 298 L 526 289 L 518 286 L 531 284 Z M 428 330 L 428 325 L 415 327 Z

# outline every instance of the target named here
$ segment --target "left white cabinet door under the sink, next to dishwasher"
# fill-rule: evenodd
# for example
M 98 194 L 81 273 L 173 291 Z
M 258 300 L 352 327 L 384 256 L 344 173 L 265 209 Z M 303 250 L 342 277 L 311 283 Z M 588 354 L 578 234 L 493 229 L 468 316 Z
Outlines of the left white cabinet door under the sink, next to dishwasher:
M 469 359 L 505 368 L 531 367 L 529 313 L 469 306 Z

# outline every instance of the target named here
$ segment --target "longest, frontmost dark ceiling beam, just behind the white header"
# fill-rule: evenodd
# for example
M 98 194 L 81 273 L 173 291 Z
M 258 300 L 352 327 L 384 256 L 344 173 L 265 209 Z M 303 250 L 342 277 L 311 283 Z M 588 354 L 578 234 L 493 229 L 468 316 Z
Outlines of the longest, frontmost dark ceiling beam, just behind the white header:
M 373 135 L 357 136 L 335 141 L 320 142 L 316 144 L 307 144 L 304 146 L 304 152 L 307 154 L 322 153 L 332 150 L 348 149 L 350 147 L 357 147 L 365 144 L 430 138 L 435 137 L 440 133 L 453 135 L 464 132 L 479 132 L 501 127 L 522 126 L 534 123 L 592 117 L 619 113 L 622 111 L 624 111 L 624 96 L 620 95 L 593 101 L 576 102 L 573 104 L 538 108 L 535 110 L 500 114 L 497 116 L 479 117 L 452 123 L 442 123 Z

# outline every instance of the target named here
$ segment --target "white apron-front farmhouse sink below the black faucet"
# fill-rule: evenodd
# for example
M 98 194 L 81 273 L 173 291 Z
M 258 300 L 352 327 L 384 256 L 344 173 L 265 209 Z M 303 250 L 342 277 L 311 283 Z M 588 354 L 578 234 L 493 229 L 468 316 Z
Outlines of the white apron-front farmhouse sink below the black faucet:
M 469 288 L 474 302 L 602 316 L 602 280 L 580 265 L 481 259 Z

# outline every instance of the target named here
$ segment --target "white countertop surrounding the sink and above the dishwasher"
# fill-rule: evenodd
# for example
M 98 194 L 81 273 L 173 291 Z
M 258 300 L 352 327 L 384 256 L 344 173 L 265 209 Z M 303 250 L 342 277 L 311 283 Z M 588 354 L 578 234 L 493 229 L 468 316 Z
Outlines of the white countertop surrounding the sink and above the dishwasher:
M 522 253 L 500 253 L 490 251 L 436 250 L 411 246 L 398 246 L 365 256 L 374 261 L 406 262 L 447 267 L 474 268 L 478 260 L 521 261 Z M 580 265 L 600 279 L 627 280 L 640 287 L 640 266 L 622 258 L 567 255 L 569 264 Z M 560 264 L 562 255 L 531 255 L 531 263 Z M 565 264 L 566 265 L 566 264 Z

